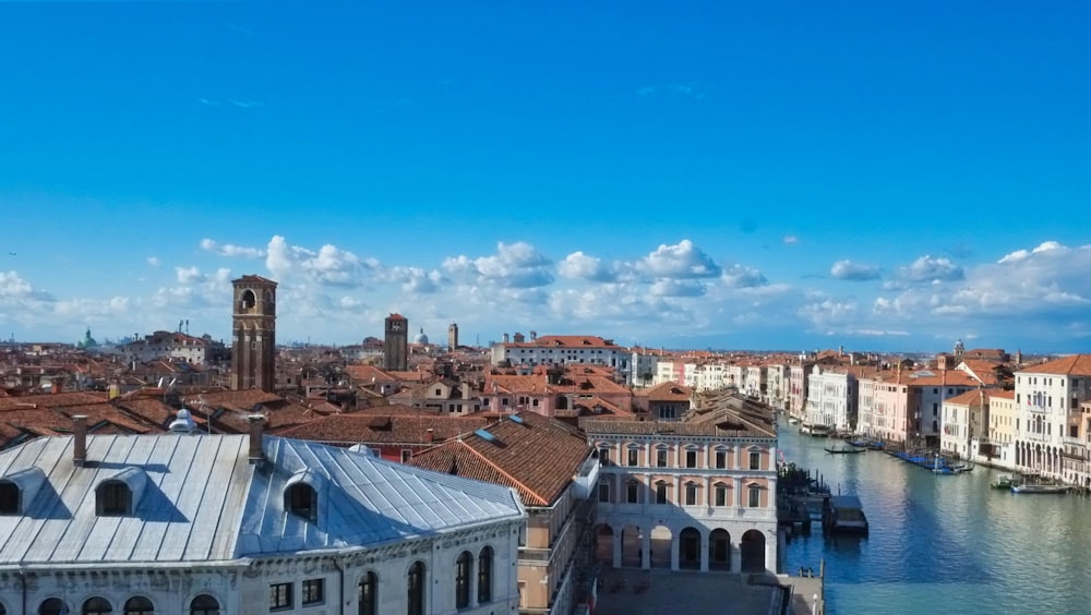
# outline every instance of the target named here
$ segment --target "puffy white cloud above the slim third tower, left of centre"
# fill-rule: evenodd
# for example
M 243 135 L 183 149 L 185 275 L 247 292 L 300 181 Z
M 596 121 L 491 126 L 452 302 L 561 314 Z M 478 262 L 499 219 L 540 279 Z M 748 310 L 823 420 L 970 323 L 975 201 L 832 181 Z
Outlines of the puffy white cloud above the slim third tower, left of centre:
M 470 258 L 465 255 L 447 257 L 443 269 L 452 276 L 477 284 L 502 288 L 535 288 L 553 282 L 549 268 L 552 262 L 529 243 L 496 244 L 491 256 Z

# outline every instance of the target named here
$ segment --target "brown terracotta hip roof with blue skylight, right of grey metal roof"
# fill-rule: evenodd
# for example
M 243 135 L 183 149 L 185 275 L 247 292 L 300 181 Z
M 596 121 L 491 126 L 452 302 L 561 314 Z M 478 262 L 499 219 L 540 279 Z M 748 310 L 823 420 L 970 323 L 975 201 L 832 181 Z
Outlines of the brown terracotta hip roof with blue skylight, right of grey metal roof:
M 515 487 L 526 506 L 551 506 L 567 489 L 591 447 L 578 430 L 533 412 L 520 412 L 419 453 L 410 463 Z M 465 420 L 465 419 L 464 419 Z

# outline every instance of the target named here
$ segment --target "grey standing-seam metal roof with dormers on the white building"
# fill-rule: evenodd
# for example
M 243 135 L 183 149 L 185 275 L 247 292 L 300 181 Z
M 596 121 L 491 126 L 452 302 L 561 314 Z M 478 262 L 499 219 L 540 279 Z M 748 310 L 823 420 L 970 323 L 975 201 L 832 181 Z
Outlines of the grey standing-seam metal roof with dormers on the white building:
M 273 436 L 264 463 L 251 465 L 248 450 L 247 435 L 165 434 L 87 436 L 82 468 L 70 436 L 0 451 L 0 480 L 31 468 L 44 475 L 24 489 L 33 499 L 20 514 L 0 515 L 0 565 L 226 562 L 524 515 L 511 489 L 364 453 Z M 95 490 L 110 480 L 139 496 L 131 515 L 97 515 Z M 315 487 L 317 522 L 285 509 L 285 489 L 298 481 Z

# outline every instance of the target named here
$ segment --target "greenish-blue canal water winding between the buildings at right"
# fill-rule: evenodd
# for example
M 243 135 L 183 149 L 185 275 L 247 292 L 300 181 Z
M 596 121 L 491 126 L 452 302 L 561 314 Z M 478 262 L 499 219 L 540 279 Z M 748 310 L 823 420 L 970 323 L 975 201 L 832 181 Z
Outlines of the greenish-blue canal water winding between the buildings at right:
M 1002 473 L 976 466 L 936 475 L 885 453 L 830 455 L 839 441 L 781 424 L 786 461 L 860 497 L 867 538 L 789 540 L 784 571 L 826 560 L 832 615 L 882 613 L 1091 614 L 1091 498 L 990 489 Z M 847 446 L 847 445 L 844 445 Z

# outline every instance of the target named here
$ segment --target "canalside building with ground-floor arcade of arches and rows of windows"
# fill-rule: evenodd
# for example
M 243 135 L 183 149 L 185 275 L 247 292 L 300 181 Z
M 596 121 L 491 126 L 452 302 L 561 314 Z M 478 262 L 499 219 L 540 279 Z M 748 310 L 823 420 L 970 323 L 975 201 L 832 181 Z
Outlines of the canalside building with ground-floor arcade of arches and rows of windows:
M 583 423 L 601 463 L 596 551 L 603 566 L 777 571 L 771 409 L 729 407 L 726 397 L 685 422 Z

